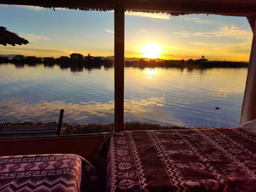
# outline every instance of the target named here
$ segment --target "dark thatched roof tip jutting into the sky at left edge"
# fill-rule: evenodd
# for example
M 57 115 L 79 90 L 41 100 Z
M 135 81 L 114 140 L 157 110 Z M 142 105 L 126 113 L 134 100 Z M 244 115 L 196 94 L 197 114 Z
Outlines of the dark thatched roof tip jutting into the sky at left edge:
M 5 27 L 0 27 L 0 44 L 4 46 L 7 44 L 15 46 L 15 44 L 21 45 L 27 43 L 28 41 L 25 38 L 21 38 L 17 34 L 6 30 Z

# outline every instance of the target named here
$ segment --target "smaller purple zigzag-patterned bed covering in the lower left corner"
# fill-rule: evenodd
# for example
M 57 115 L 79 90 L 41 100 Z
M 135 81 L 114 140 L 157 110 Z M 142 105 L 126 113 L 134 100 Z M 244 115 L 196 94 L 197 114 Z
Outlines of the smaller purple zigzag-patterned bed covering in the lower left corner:
M 0 157 L 0 191 L 97 191 L 94 167 L 74 154 Z

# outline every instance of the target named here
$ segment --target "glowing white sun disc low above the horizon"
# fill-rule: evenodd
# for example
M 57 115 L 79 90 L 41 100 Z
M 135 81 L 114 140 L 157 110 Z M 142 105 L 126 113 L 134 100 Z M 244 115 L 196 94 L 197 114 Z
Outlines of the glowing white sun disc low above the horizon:
M 163 49 L 161 45 L 149 43 L 140 47 L 140 50 L 142 52 L 142 57 L 156 59 L 161 56 Z

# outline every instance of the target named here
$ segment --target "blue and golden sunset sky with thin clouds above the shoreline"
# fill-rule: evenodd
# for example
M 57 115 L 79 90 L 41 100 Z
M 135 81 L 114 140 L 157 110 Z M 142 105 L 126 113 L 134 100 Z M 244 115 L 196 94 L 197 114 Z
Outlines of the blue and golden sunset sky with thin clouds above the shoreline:
M 114 12 L 0 4 L 0 26 L 29 41 L 0 54 L 36 57 L 71 53 L 114 55 Z M 125 57 L 249 61 L 252 30 L 246 18 L 125 13 Z

